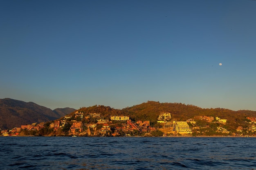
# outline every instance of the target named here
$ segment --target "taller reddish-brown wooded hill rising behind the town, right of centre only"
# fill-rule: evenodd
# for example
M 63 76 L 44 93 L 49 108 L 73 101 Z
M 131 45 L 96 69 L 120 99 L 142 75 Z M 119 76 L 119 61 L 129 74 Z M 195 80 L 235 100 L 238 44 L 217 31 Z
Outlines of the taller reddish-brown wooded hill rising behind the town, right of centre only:
M 155 101 L 148 101 L 121 110 L 121 114 L 128 115 L 136 121 L 149 120 L 152 123 L 156 123 L 160 112 L 170 112 L 174 121 L 186 121 L 195 116 L 218 116 L 222 119 L 228 119 L 230 123 L 243 123 L 247 116 L 256 117 L 256 112 L 250 110 L 233 111 L 224 108 L 203 109 L 194 105 L 159 103 Z

